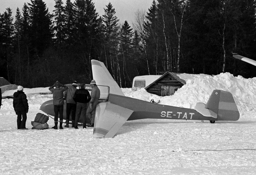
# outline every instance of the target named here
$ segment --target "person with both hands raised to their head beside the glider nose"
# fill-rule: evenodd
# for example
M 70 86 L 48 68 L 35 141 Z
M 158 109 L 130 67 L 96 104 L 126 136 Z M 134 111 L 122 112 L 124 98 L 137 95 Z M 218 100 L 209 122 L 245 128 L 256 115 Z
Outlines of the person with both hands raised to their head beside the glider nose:
M 55 87 L 55 89 L 54 89 Z M 63 87 L 63 88 L 60 88 Z M 64 110 L 64 91 L 67 91 L 68 87 L 60 84 L 59 81 L 56 81 L 51 87 L 49 87 L 49 91 L 52 92 L 53 96 L 53 106 L 54 106 L 54 126 L 52 129 L 58 129 L 58 115 L 60 113 L 60 129 L 63 129 L 63 110 Z

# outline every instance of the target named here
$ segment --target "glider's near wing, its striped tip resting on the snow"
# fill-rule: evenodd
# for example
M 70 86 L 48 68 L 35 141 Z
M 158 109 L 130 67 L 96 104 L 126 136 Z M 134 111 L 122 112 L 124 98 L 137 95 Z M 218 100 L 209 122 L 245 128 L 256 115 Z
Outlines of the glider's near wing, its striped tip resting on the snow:
M 101 102 L 96 107 L 93 136 L 112 138 L 123 126 L 133 111 L 110 102 Z

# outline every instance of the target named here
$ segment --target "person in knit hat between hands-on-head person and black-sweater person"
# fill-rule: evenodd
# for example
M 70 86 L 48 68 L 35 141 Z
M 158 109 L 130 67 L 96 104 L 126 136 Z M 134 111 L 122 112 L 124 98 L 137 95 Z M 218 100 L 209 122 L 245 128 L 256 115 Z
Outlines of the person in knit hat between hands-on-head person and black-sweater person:
M 64 92 L 64 98 L 67 100 L 67 108 L 66 108 L 66 125 L 65 127 L 69 127 L 69 117 L 70 113 L 72 117 L 72 127 L 75 127 L 75 118 L 76 118 L 76 102 L 73 97 L 76 92 L 77 82 L 75 81 L 72 86 L 68 88 L 67 91 Z

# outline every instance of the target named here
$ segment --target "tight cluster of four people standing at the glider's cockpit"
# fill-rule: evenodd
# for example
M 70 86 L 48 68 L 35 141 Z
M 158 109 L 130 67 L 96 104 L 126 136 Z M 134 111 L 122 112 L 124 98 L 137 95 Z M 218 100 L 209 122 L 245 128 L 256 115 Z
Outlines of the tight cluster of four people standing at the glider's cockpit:
M 71 114 L 72 127 L 78 129 L 79 118 L 83 117 L 83 128 L 86 128 L 87 118 L 90 119 L 88 127 L 94 126 L 96 106 L 99 103 L 100 89 L 96 85 L 95 80 L 91 81 L 91 95 L 85 89 L 85 84 L 80 84 L 80 89 L 76 89 L 77 82 L 75 81 L 69 88 L 60 84 L 58 81 L 49 87 L 53 94 L 54 105 L 54 126 L 52 129 L 58 129 L 58 115 L 60 114 L 60 129 L 63 129 L 63 106 L 64 98 L 67 100 L 66 108 L 66 125 L 69 127 L 69 120 Z M 55 87 L 55 89 L 54 89 Z M 62 87 L 62 88 L 60 88 Z M 90 102 L 90 103 L 89 103 Z M 89 105 L 88 105 L 89 103 Z

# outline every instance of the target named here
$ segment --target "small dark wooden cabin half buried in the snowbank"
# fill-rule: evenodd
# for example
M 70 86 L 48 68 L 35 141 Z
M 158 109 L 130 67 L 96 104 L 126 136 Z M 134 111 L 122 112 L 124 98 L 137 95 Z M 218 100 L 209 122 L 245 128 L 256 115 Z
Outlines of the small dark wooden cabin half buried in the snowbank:
M 166 72 L 164 75 L 157 78 L 153 83 L 145 87 L 146 91 L 158 96 L 173 95 L 179 88 L 186 84 L 185 80 L 182 80 L 179 73 Z

